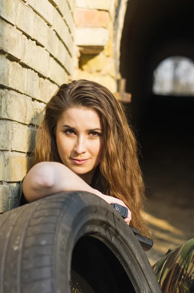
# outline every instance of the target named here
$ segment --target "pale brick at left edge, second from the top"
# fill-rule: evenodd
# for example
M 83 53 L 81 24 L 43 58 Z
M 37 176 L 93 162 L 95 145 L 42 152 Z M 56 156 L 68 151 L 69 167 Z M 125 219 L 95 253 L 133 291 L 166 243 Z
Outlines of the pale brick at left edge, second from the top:
M 24 51 L 22 33 L 11 24 L 0 19 L 0 49 L 21 60 Z

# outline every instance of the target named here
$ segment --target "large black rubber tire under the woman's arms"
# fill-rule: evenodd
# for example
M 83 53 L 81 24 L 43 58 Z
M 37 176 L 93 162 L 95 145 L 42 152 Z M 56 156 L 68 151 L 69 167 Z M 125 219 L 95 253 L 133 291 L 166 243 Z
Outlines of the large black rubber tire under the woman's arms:
M 61 192 L 0 215 L 0 293 L 71 292 L 161 290 L 133 232 L 96 195 Z

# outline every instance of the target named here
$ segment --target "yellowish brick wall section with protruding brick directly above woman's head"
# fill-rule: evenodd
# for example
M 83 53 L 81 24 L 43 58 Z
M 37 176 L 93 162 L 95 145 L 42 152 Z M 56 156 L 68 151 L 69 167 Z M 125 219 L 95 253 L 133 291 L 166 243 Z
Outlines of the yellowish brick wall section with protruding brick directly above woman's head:
M 118 0 L 76 0 L 77 63 L 75 78 L 88 79 L 117 91 L 114 52 Z M 124 16 L 123 16 L 124 17 Z

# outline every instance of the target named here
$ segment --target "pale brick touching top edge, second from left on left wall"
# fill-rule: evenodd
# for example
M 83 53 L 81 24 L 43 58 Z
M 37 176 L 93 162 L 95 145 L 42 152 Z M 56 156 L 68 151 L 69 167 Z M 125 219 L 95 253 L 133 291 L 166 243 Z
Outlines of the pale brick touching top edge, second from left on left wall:
M 35 23 L 35 13 L 27 5 L 18 1 L 18 15 L 16 18 L 16 25 L 20 30 L 27 34 L 29 37 L 33 37 Z

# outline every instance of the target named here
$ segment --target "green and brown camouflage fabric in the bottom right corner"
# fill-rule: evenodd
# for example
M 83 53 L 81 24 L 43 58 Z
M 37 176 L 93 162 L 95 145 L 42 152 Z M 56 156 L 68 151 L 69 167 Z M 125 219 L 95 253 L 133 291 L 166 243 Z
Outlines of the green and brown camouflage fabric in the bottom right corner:
M 194 238 L 161 258 L 153 269 L 163 293 L 194 293 Z

